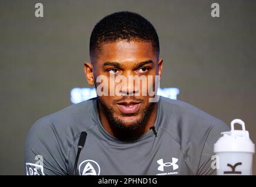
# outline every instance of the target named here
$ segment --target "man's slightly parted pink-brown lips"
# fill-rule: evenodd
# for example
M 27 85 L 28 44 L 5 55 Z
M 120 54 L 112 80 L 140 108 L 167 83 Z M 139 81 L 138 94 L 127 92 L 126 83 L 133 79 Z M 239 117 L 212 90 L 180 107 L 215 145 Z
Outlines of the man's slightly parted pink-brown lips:
M 122 113 L 136 113 L 140 109 L 141 102 L 123 101 L 116 103 Z

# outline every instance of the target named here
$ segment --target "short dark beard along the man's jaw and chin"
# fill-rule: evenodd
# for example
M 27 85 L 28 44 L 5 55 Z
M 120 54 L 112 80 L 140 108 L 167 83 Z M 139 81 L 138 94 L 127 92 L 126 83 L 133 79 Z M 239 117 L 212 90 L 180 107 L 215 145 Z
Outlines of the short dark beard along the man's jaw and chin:
M 109 121 L 109 124 L 113 125 L 114 127 L 117 127 L 120 130 L 135 130 L 139 127 L 142 127 L 144 124 L 147 123 L 149 120 L 150 114 L 153 111 L 154 108 L 154 102 L 150 102 L 149 106 L 143 110 L 142 117 L 140 117 L 139 120 L 134 122 L 133 124 L 130 124 L 127 126 L 125 123 L 122 122 L 122 120 L 118 119 L 117 117 L 114 117 L 114 111 L 113 109 L 108 109 L 105 103 L 98 97 L 98 101 L 100 105 L 102 105 L 102 108 L 107 116 L 107 120 Z M 124 114 L 123 116 L 132 116 L 133 114 Z

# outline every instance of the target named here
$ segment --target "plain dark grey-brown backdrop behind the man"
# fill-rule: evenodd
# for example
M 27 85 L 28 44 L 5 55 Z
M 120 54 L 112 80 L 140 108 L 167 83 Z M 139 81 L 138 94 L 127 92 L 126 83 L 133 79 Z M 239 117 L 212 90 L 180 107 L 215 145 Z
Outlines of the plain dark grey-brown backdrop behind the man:
M 44 18 L 35 17 L 36 2 Z M 214 2 L 220 18 L 211 17 Z M 116 11 L 140 13 L 156 27 L 161 87 L 179 88 L 179 100 L 228 125 L 244 120 L 256 143 L 255 1 L 0 1 L 1 175 L 23 174 L 32 124 L 71 105 L 72 88 L 88 87 L 90 33 Z

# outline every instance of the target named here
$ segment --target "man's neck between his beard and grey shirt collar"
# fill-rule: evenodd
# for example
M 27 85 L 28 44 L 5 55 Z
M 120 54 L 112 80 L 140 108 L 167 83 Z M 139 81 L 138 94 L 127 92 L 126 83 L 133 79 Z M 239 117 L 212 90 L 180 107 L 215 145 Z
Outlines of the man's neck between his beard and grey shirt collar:
M 110 124 L 109 120 L 107 119 L 106 113 L 104 112 L 102 106 L 100 106 L 99 102 L 97 102 L 97 106 L 98 106 L 98 115 L 99 115 L 100 122 L 102 123 L 102 126 L 107 131 L 107 133 L 111 134 L 116 138 L 122 139 L 122 138 L 133 138 L 133 137 L 142 136 L 143 134 L 147 133 L 147 131 L 150 130 L 150 127 L 154 126 L 154 123 L 156 122 L 158 102 L 154 103 L 153 109 L 151 111 L 151 115 L 147 120 L 147 122 L 134 130 L 122 130 L 114 126 L 113 124 Z

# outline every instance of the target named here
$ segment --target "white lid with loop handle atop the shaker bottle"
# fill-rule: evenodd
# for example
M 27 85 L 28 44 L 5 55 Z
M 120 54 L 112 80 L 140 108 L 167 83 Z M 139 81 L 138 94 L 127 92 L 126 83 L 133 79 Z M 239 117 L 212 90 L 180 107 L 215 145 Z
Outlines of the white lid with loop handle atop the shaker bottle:
M 242 126 L 242 130 L 235 130 L 235 123 L 240 124 Z M 225 131 L 221 134 L 223 134 L 223 136 L 214 144 L 214 153 L 255 152 L 255 146 L 249 137 L 249 132 L 245 130 L 245 124 L 241 119 L 234 119 L 231 122 L 231 131 Z

